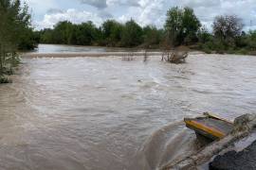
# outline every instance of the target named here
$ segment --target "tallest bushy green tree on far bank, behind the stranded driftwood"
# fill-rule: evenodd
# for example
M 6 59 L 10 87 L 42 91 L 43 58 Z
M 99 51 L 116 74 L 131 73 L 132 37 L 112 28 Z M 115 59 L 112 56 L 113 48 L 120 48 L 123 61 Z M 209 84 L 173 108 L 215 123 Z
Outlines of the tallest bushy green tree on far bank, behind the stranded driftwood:
M 167 11 L 165 31 L 171 45 L 196 42 L 201 24 L 192 8 L 171 8 Z

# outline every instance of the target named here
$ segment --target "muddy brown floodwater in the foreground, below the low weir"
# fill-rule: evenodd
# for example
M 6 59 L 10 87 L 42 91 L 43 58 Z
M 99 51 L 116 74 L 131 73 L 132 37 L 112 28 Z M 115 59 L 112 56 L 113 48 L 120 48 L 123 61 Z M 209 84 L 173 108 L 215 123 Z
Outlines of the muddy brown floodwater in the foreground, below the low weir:
M 0 169 L 151 170 L 196 151 L 182 120 L 256 110 L 256 58 L 22 59 L 0 85 Z

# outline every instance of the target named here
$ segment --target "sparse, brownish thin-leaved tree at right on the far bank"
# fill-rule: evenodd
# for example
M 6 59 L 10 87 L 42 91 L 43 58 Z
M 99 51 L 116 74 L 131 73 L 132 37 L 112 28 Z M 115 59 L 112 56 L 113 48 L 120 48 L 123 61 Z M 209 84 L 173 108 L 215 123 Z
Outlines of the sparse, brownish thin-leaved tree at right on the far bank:
M 234 45 L 235 39 L 242 34 L 243 23 L 235 15 L 217 16 L 213 22 L 213 35 L 220 41 L 229 45 Z

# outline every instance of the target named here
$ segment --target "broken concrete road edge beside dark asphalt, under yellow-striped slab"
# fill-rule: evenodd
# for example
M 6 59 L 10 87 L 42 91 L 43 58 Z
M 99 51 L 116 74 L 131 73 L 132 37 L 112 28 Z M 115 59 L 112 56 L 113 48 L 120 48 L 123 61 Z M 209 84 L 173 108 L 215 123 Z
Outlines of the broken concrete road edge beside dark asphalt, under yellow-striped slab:
M 207 145 L 193 155 L 187 155 L 179 160 L 169 162 L 160 169 L 197 169 L 196 166 L 210 161 L 213 156 L 228 148 L 230 144 L 247 137 L 255 126 L 256 114 L 242 115 L 235 119 L 233 131 L 225 138 Z

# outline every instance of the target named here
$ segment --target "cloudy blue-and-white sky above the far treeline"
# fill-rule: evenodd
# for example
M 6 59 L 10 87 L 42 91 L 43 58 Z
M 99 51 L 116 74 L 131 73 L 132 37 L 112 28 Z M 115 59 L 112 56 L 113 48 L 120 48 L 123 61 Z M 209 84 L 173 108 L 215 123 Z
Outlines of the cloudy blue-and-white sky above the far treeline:
M 214 16 L 235 14 L 245 29 L 256 28 L 256 0 L 24 0 L 32 10 L 37 29 L 60 21 L 79 24 L 93 21 L 97 26 L 107 19 L 126 22 L 135 19 L 141 26 L 162 27 L 168 8 L 190 7 L 203 25 L 210 27 Z

